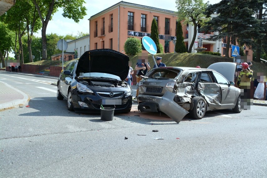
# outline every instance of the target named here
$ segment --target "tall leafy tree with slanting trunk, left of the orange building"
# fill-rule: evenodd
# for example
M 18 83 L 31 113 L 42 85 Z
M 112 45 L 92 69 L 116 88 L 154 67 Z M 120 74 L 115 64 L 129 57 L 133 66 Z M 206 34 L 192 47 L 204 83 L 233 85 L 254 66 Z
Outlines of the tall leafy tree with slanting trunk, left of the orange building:
M 52 15 L 58 11 L 58 8 L 63 8 L 62 16 L 71 18 L 76 23 L 86 15 L 86 8 L 83 6 L 84 0 L 33 0 L 35 7 L 38 10 L 39 17 L 42 22 L 42 53 L 43 59 L 47 58 L 47 39 L 46 28 Z M 44 13 L 45 12 L 45 13 Z

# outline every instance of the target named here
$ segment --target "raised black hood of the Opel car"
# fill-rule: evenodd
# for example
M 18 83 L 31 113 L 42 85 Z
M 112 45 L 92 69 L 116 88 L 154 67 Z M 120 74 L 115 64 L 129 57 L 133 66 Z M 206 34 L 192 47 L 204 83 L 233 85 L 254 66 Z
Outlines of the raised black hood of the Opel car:
M 78 61 L 76 76 L 89 72 L 113 74 L 124 80 L 129 72 L 129 57 L 111 49 L 86 51 Z

